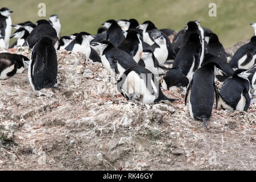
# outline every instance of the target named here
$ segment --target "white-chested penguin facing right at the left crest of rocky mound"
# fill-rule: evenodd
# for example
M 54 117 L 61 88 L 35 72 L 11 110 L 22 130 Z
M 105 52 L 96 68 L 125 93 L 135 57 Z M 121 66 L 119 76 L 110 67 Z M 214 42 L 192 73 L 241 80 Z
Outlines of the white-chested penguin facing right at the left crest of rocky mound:
M 85 61 L 89 59 L 90 56 L 90 42 L 94 39 L 93 35 L 87 32 L 80 32 L 71 43 L 68 44 L 65 49 L 72 52 L 81 52 L 85 54 Z

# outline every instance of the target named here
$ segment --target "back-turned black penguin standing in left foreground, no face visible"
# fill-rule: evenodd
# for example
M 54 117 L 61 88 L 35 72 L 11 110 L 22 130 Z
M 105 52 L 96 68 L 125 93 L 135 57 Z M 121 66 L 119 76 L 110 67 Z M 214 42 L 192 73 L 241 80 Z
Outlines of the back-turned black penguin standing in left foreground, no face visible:
M 43 36 L 32 49 L 28 65 L 28 80 L 33 90 L 55 88 L 57 83 L 57 55 L 53 47 L 55 42 L 49 36 Z

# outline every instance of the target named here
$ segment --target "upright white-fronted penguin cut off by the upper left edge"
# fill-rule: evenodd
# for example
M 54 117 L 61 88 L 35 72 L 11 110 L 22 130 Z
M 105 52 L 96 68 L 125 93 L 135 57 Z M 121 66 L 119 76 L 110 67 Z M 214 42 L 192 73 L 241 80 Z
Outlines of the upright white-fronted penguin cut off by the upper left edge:
M 9 47 L 9 40 L 11 36 L 11 13 L 7 7 L 0 9 L 0 31 L 2 31 L 2 37 L 5 40 L 5 48 Z

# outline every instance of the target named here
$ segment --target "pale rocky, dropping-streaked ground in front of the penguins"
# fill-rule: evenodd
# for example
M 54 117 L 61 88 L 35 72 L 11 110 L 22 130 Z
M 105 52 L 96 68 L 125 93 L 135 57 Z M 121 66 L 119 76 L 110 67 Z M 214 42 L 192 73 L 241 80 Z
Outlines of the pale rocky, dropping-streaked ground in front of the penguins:
M 32 92 L 27 70 L 0 81 L 0 169 L 255 170 L 256 104 L 213 109 L 206 129 L 180 93 L 163 91 L 181 98 L 172 104 L 127 102 L 100 63 L 57 57 L 60 90 Z

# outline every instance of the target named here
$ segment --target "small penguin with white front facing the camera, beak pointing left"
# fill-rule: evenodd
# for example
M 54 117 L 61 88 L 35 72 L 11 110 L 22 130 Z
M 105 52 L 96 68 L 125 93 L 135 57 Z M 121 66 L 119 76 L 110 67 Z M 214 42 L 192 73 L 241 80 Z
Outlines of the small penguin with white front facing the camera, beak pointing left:
M 168 49 L 164 35 L 158 36 L 158 38 L 155 39 L 155 43 L 150 47 L 147 47 L 147 49 L 150 49 L 152 52 L 154 52 L 154 55 L 156 59 L 158 59 L 159 64 L 164 64 L 166 62 L 168 57 Z

